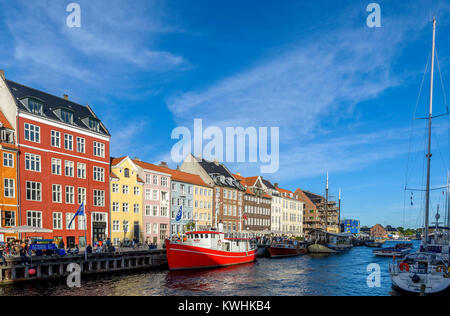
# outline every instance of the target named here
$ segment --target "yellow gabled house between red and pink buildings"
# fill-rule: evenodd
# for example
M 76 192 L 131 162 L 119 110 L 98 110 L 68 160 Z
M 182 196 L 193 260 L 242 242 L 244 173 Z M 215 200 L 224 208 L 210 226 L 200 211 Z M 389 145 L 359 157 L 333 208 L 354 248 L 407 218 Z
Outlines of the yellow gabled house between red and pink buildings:
M 114 245 L 133 240 L 144 242 L 143 185 L 138 170 L 129 157 L 112 158 L 111 240 Z

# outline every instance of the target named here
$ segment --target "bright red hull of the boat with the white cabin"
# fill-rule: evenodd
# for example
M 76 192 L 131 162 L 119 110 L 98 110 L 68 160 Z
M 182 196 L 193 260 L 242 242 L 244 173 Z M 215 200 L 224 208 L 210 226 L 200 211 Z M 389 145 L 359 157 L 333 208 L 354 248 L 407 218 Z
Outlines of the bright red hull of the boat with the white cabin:
M 254 262 L 257 250 L 229 252 L 171 243 L 166 240 L 170 270 L 209 269 Z

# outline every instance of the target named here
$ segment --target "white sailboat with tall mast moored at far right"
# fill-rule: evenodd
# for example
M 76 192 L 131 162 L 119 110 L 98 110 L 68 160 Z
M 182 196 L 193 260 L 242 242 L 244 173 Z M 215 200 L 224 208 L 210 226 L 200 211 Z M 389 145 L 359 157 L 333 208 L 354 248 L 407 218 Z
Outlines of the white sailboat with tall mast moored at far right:
M 427 177 L 425 189 L 425 226 L 420 249 L 404 259 L 389 264 L 389 274 L 393 288 L 421 295 L 438 294 L 450 290 L 450 264 L 447 231 L 434 238 L 429 234 L 430 214 L 430 173 L 431 173 L 431 123 L 433 120 L 433 75 L 435 61 L 436 19 L 433 19 L 433 41 L 431 52 L 430 104 L 427 115 Z M 448 111 L 447 111 L 448 112 Z M 448 114 L 448 113 L 447 113 Z M 448 192 L 448 183 L 447 183 Z M 439 238 L 438 238 L 439 237 Z

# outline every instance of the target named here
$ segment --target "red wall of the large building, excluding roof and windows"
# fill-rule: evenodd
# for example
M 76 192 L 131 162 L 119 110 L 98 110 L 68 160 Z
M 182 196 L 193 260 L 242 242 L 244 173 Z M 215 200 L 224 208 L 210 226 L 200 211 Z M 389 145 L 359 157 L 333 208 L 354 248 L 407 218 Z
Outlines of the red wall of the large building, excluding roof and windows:
M 40 127 L 40 142 L 32 142 L 24 138 L 24 124 L 29 123 Z M 52 229 L 53 233 L 47 234 L 27 234 L 27 237 L 53 238 L 60 237 L 64 239 L 66 245 L 68 238 L 74 238 L 76 244 L 82 244 L 85 230 L 79 229 L 78 222 L 80 217 L 74 220 L 75 225 L 72 229 L 67 229 L 67 217 L 76 213 L 81 201 L 78 200 L 78 188 L 86 189 L 86 214 L 87 214 L 87 240 L 92 243 L 95 239 L 106 239 L 109 236 L 109 137 L 100 136 L 96 133 L 90 133 L 66 124 L 56 123 L 46 120 L 43 117 L 37 117 L 31 114 L 21 113 L 18 118 L 19 142 L 19 172 L 20 172 L 20 200 L 22 224 L 31 224 L 27 221 L 27 212 L 40 212 L 42 215 L 43 228 Z M 51 131 L 60 132 L 60 147 L 51 146 Z M 64 134 L 73 136 L 73 150 L 64 149 Z M 77 152 L 77 137 L 85 139 L 85 153 Z M 93 154 L 93 142 L 97 141 L 105 145 L 104 157 L 96 157 Z M 26 154 L 40 156 L 41 170 L 39 172 L 26 169 Z M 52 158 L 61 160 L 61 174 L 52 174 Z M 74 163 L 73 176 L 65 174 L 65 162 Z M 77 164 L 86 164 L 86 178 L 77 176 Z M 94 181 L 93 169 L 100 167 L 104 169 L 103 181 Z M 37 182 L 41 185 L 41 199 L 33 201 L 27 198 L 27 181 Z M 52 198 L 52 185 L 61 185 L 61 202 L 54 202 Z M 74 187 L 73 203 L 66 202 L 67 187 Z M 103 192 L 103 203 L 99 206 L 94 205 L 94 190 Z M 62 215 L 62 225 L 54 225 L 54 213 Z M 60 224 L 60 222 L 57 222 Z M 95 232 L 100 232 L 101 236 L 94 236 Z

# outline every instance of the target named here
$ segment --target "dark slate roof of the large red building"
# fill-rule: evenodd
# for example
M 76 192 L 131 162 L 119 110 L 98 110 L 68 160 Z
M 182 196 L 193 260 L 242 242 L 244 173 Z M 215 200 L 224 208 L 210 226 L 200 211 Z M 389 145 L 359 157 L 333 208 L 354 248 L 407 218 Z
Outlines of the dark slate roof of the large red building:
M 20 83 L 5 80 L 6 85 L 14 96 L 16 105 L 19 110 L 23 112 L 29 112 L 29 110 L 20 102 L 21 99 L 26 97 L 33 97 L 43 102 L 43 116 L 53 121 L 62 122 L 58 116 L 54 113 L 54 110 L 58 108 L 68 108 L 73 111 L 73 125 L 81 129 L 93 132 L 83 121 L 83 118 L 94 117 L 100 121 L 89 106 L 80 105 L 70 100 L 66 100 L 43 91 L 39 91 Z M 108 130 L 103 124 L 100 124 L 98 133 L 110 136 Z

